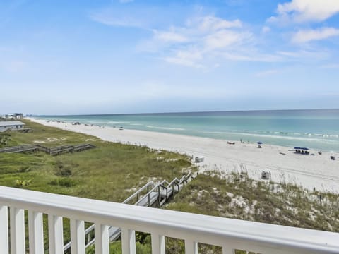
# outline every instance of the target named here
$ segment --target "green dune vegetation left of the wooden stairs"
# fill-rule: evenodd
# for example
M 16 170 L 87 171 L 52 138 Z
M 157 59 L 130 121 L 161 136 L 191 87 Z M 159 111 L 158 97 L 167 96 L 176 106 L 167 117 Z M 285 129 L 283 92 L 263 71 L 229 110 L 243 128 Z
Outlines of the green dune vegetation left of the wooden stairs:
M 191 167 L 190 158 L 148 147 L 109 143 L 90 135 L 25 121 L 32 133 L 8 131 L 6 145 L 46 147 L 91 143 L 97 148 L 51 156 L 44 152 L 1 154 L 0 185 L 122 202 L 150 180 L 171 180 Z

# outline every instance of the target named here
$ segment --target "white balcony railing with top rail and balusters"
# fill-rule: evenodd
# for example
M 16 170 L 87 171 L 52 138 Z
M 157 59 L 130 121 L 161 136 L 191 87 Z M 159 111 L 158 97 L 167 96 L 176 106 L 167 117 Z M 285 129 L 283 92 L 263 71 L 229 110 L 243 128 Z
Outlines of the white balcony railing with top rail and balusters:
M 8 232 L 9 207 L 9 232 Z M 25 210 L 28 238 L 25 243 Z M 109 253 L 108 225 L 121 227 L 123 253 L 136 253 L 135 231 L 151 234 L 152 253 L 165 254 L 165 236 L 180 238 L 186 254 L 198 243 L 256 253 L 339 253 L 339 234 L 174 212 L 0 186 L 0 253 L 44 253 L 43 216 L 48 214 L 49 253 L 64 253 L 63 217 L 70 219 L 71 252 L 85 253 L 84 222 L 95 223 L 96 253 Z M 9 241 L 10 239 L 10 241 Z

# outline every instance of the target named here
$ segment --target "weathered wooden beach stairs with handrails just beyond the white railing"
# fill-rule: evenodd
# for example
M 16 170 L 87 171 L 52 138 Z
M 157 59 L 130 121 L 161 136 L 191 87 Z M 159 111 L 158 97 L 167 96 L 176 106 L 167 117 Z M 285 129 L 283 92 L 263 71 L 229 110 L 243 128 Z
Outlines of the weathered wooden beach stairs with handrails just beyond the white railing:
M 150 181 L 143 187 L 139 188 L 138 191 L 133 193 L 129 198 L 122 202 L 123 204 L 138 205 L 143 207 L 162 207 L 169 198 L 174 197 L 179 191 L 192 179 L 196 178 L 198 173 L 186 174 L 181 179 L 174 178 L 171 182 L 163 180 L 159 183 Z M 85 248 L 95 243 L 95 224 L 92 224 L 85 229 Z M 121 229 L 116 226 L 109 226 L 108 228 L 109 241 L 115 241 L 121 234 Z M 64 252 L 71 248 L 71 242 L 66 243 L 64 246 Z

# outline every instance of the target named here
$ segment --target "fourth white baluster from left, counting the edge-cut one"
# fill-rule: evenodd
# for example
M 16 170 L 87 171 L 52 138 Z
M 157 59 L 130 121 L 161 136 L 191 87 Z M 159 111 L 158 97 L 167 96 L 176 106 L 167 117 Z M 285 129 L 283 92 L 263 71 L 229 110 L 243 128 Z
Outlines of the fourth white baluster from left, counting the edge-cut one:
M 62 217 L 48 215 L 49 253 L 64 254 Z

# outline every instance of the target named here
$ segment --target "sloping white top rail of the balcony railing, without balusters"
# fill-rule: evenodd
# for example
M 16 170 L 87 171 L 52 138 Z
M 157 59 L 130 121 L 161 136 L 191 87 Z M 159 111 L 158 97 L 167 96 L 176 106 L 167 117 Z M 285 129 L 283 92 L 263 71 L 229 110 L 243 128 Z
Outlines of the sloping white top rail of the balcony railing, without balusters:
M 0 186 L 0 205 L 57 214 L 88 222 L 114 224 L 166 236 L 192 234 L 196 241 L 246 241 L 265 248 L 338 253 L 339 234 L 290 226 L 278 226 L 201 214 L 160 210 L 66 195 Z M 305 252 L 306 253 L 306 252 Z

